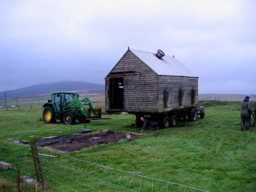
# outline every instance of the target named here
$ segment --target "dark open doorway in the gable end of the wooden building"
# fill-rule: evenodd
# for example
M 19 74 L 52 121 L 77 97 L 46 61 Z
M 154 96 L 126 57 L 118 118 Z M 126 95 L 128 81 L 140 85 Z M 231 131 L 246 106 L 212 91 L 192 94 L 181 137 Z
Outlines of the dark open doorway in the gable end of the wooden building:
M 109 104 L 110 109 L 124 108 L 124 78 L 109 79 Z

